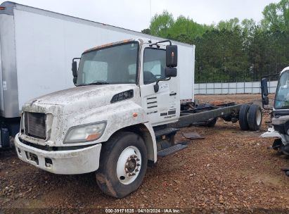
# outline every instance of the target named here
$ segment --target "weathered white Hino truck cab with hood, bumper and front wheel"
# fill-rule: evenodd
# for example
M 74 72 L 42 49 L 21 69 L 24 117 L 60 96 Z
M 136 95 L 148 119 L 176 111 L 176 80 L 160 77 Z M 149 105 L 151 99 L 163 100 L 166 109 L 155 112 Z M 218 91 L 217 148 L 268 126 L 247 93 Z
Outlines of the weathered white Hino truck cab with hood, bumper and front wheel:
M 135 191 L 157 152 L 174 144 L 166 126 L 180 116 L 177 52 L 168 40 L 142 39 L 84 51 L 72 62 L 75 87 L 24 104 L 18 157 L 56 174 L 96 171 L 110 196 Z

